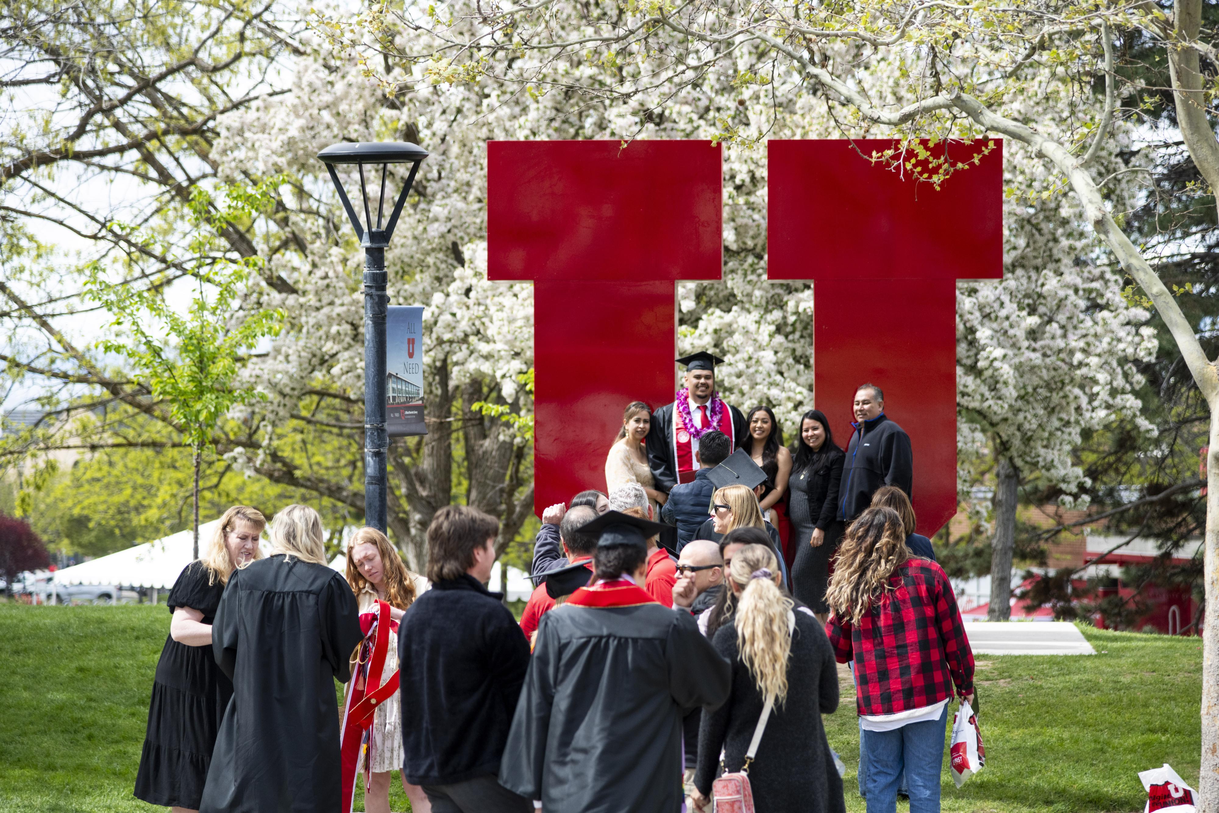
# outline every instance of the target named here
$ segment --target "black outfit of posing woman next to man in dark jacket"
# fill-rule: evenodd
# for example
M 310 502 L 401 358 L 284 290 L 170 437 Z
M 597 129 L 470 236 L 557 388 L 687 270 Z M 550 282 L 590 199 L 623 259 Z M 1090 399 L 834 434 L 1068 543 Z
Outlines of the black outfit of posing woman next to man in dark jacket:
M 792 470 L 790 518 L 796 535 L 796 561 L 791 566 L 792 592 L 814 613 L 828 613 L 825 589 L 829 586 L 830 558 L 837 551 L 844 523 L 836 519 L 839 486 L 846 455 L 837 446 L 820 455 L 801 472 Z M 813 529 L 825 531 L 825 540 L 813 547 L 808 541 Z

